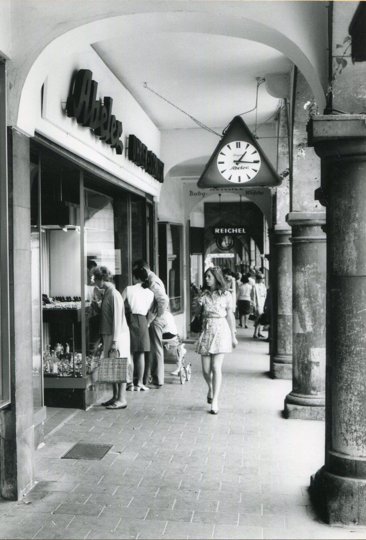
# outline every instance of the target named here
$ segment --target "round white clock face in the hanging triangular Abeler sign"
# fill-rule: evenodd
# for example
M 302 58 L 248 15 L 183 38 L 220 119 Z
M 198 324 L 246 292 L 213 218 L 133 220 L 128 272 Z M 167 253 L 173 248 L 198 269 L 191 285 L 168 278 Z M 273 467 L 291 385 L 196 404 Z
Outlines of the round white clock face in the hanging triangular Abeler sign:
M 261 166 L 259 152 L 244 140 L 234 140 L 222 147 L 217 159 L 221 176 L 234 184 L 245 184 Z

